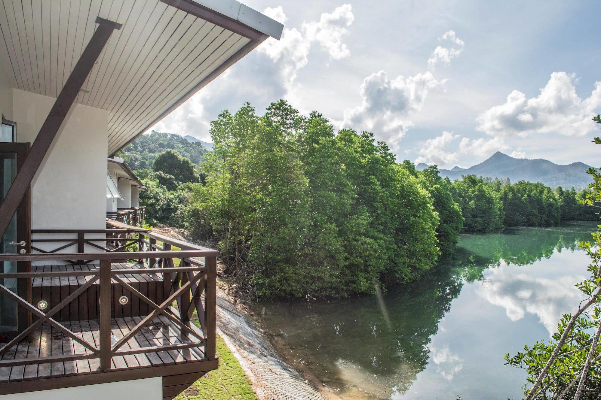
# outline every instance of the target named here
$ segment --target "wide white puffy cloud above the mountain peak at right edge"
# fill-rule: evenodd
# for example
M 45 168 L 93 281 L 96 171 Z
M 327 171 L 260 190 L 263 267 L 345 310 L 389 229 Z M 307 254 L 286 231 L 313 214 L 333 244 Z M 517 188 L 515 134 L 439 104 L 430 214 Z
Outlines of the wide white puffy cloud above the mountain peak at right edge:
M 554 72 L 537 97 L 526 98 L 514 90 L 504 104 L 493 106 L 477 118 L 477 129 L 493 136 L 528 136 L 534 133 L 558 133 L 583 136 L 594 131 L 590 118 L 601 106 L 601 82 L 591 95 L 576 94 L 574 74 Z

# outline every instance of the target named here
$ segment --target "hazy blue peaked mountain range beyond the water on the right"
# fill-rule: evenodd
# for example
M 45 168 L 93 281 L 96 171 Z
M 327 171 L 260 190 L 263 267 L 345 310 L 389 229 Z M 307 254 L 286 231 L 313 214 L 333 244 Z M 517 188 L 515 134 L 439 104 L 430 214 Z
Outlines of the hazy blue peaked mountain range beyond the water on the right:
M 419 163 L 415 167 L 419 171 L 427 168 L 427 164 Z M 455 166 L 453 169 L 440 169 L 441 177 L 450 180 L 462 179 L 464 175 L 477 177 L 509 178 L 513 182 L 530 181 L 540 182 L 546 186 L 561 186 L 564 189 L 575 187 L 584 189 L 591 183 L 591 176 L 587 174 L 590 166 L 576 162 L 569 165 L 558 165 L 544 159 L 516 159 L 500 151 L 484 160 L 480 164 L 469 168 Z

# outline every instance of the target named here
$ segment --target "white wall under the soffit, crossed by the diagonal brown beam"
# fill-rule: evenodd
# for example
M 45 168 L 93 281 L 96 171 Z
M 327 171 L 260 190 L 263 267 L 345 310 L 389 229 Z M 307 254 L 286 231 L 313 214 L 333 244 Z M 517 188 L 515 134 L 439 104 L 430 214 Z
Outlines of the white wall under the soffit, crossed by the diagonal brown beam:
M 55 98 L 13 89 L 17 142 L 33 142 Z M 105 229 L 108 112 L 74 105 L 31 187 L 32 229 Z

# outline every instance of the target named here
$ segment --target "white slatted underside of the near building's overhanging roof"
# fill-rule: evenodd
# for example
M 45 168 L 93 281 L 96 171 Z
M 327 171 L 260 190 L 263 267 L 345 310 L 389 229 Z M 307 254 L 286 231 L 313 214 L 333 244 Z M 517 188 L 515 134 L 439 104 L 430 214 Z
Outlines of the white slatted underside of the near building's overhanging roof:
M 109 111 L 108 154 L 282 29 L 232 0 L 2 0 L 0 56 L 10 60 L 10 85 L 56 97 L 97 16 L 123 27 L 112 33 L 76 102 Z

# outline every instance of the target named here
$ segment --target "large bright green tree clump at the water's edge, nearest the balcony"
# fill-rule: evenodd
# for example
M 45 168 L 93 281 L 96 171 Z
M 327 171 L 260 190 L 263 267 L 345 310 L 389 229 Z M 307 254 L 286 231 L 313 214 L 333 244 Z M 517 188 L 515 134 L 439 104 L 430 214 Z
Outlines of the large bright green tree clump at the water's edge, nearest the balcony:
M 370 133 L 336 134 L 283 101 L 263 117 L 223 112 L 211 133 L 188 223 L 210 226 L 228 273 L 256 295 L 373 292 L 435 264 L 432 198 Z

